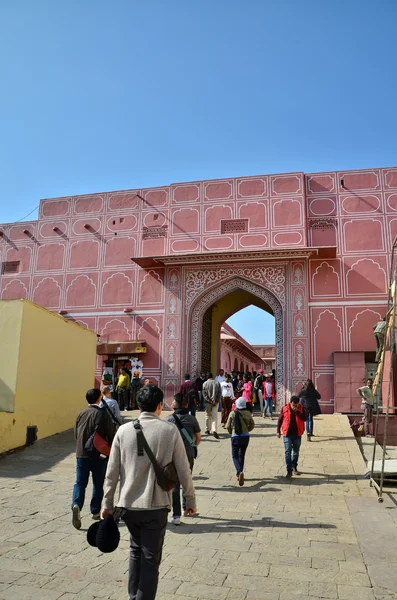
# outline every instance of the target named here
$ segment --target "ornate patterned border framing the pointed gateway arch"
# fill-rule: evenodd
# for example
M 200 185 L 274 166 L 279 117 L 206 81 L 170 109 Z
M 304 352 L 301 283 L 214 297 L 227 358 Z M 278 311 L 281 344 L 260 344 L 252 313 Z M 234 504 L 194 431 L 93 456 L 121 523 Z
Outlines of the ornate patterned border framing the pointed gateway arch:
M 277 390 L 283 390 L 279 400 L 284 400 L 286 387 L 284 386 L 284 324 L 283 308 L 280 301 L 265 287 L 243 277 L 233 277 L 205 290 L 192 306 L 188 314 L 188 348 L 190 349 L 190 373 L 198 372 L 199 353 L 202 341 L 202 321 L 205 311 L 227 294 L 238 290 L 245 290 L 261 298 L 273 311 L 276 319 L 276 373 Z

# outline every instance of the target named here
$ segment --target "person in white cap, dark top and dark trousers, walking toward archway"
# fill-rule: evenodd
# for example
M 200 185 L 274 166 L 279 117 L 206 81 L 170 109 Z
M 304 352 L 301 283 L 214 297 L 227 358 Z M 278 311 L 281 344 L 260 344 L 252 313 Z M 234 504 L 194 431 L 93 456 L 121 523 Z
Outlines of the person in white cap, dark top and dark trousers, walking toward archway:
M 236 467 L 236 477 L 239 485 L 244 485 L 245 453 L 250 441 L 249 432 L 255 427 L 254 419 L 244 398 L 236 400 L 236 408 L 230 413 L 226 429 L 232 436 L 232 458 Z

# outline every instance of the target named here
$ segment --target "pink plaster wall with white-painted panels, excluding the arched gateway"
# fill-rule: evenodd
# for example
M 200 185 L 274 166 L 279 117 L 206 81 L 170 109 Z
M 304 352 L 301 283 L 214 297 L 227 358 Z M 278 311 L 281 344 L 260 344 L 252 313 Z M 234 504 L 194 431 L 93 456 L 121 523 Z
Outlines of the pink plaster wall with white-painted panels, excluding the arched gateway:
M 145 370 L 169 393 L 185 352 L 183 273 L 161 264 L 143 269 L 131 257 L 241 252 L 249 264 L 248 253 L 283 252 L 285 383 L 293 391 L 312 377 L 332 411 L 333 352 L 374 350 L 372 326 L 385 313 L 397 168 L 46 199 L 38 221 L 0 231 L 0 261 L 20 262 L 17 274 L 0 275 L 1 298 L 67 310 L 109 340 L 144 337 Z M 296 255 L 332 245 L 332 258 Z M 133 312 L 126 316 L 124 308 Z

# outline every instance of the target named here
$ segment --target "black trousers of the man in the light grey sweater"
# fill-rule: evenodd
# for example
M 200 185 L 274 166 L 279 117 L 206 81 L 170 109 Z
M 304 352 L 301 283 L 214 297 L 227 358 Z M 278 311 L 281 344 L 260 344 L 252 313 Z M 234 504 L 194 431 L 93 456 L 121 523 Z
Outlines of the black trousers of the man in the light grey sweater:
M 127 510 L 122 519 L 130 532 L 130 600 L 154 600 L 163 552 L 168 510 Z

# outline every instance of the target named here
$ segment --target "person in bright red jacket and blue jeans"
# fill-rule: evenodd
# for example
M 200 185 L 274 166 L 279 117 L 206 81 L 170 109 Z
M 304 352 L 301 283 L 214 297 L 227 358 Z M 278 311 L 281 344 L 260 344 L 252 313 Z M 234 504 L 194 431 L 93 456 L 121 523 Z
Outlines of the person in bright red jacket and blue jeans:
M 281 432 L 284 436 L 287 478 L 292 477 L 293 473 L 300 475 L 298 471 L 299 450 L 306 419 L 306 411 L 299 404 L 298 396 L 291 396 L 290 402 L 283 406 L 277 423 L 277 437 L 281 437 Z

